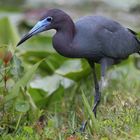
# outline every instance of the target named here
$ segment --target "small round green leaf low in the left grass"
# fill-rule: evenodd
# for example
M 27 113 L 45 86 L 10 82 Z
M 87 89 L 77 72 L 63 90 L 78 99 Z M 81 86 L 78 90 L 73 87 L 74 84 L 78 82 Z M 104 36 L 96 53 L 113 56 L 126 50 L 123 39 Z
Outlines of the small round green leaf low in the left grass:
M 30 109 L 30 105 L 27 101 L 19 100 L 15 104 L 15 109 L 19 112 L 25 113 Z

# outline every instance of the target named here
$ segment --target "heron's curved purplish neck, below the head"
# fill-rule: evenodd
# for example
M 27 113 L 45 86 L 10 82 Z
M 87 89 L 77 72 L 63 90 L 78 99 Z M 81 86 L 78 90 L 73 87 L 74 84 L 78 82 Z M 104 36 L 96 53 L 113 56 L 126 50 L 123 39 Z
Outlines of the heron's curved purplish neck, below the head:
M 58 53 L 66 57 L 76 57 L 73 39 L 75 37 L 75 25 L 68 19 L 60 28 L 57 29 L 53 37 L 53 46 Z

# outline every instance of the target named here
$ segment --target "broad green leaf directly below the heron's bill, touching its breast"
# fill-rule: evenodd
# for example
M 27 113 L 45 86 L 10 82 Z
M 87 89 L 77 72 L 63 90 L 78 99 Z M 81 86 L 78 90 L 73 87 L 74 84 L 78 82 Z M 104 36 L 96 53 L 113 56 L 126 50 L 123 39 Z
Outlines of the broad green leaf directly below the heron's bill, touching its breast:
M 52 47 L 52 39 L 49 36 L 36 36 L 18 47 L 18 54 L 25 63 L 32 65 L 37 61 L 46 58 L 39 70 L 52 74 L 66 60 L 65 57 L 56 53 Z

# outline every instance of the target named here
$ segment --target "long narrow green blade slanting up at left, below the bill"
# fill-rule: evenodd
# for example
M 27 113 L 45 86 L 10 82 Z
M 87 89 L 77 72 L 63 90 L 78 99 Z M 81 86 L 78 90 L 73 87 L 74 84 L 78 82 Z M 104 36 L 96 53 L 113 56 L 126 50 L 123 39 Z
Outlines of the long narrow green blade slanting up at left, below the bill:
M 6 101 L 9 101 L 18 96 L 20 88 L 27 86 L 28 82 L 32 79 L 38 66 L 43 60 L 39 61 L 38 63 L 33 65 L 30 69 L 28 69 L 28 71 L 24 74 L 24 76 L 14 85 L 14 87 L 11 90 L 11 93 L 5 97 Z

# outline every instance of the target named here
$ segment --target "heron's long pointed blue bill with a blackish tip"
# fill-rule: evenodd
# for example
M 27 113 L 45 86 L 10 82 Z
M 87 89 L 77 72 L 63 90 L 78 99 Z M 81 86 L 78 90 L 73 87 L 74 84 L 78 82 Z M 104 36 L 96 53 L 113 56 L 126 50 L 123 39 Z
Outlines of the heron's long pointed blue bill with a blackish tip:
M 18 42 L 17 46 L 19 46 L 32 36 L 45 31 L 49 24 L 50 22 L 48 22 L 46 19 L 38 21 L 37 24 Z

